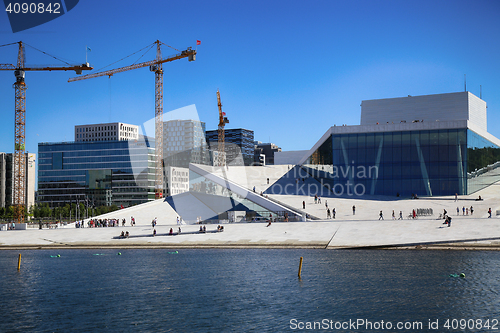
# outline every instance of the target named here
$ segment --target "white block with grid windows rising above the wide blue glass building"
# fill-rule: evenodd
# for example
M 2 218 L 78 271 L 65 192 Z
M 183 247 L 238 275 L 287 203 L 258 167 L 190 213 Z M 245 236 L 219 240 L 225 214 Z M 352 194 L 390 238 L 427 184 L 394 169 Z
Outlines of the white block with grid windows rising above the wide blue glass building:
M 75 142 L 137 140 L 139 126 L 125 123 L 75 126 Z

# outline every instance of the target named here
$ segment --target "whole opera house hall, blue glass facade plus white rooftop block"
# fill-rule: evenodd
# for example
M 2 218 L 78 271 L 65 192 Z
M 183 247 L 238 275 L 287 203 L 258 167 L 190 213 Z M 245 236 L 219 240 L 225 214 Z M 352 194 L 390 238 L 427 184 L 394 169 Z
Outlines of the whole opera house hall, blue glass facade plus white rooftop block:
M 335 195 L 471 194 L 500 180 L 500 140 L 470 92 L 368 100 L 361 125 L 331 127 L 300 165 Z

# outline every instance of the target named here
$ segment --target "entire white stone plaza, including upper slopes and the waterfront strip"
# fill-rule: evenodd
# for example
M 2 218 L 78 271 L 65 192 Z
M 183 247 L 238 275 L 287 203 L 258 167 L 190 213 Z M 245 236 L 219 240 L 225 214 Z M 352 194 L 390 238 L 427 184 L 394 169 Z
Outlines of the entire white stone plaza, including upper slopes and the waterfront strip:
M 260 168 L 260 167 L 259 167 Z M 227 170 L 226 170 L 227 171 Z M 242 171 L 246 171 L 243 174 Z M 258 171 L 258 172 L 257 172 Z M 242 183 L 249 189 L 264 191 L 288 166 L 260 169 L 230 167 L 226 177 Z M 270 178 L 270 184 L 267 182 Z M 293 179 L 292 179 L 293 180 Z M 322 198 L 314 203 L 313 196 L 269 195 L 270 198 L 295 207 L 313 216 L 325 218 L 307 222 L 227 223 L 224 232 L 216 232 L 216 224 L 207 224 L 206 233 L 199 233 L 199 225 L 181 225 L 177 234 L 177 212 L 164 200 L 121 209 L 99 218 L 125 218 L 125 227 L 75 228 L 70 224 L 59 229 L 28 229 L 26 231 L 0 231 L 0 249 L 18 248 L 455 248 L 500 249 L 500 188 L 498 183 L 473 195 L 431 197 L 412 200 L 395 197 Z M 476 199 L 481 196 L 483 200 Z M 302 203 L 306 203 L 303 209 Z M 328 208 L 336 210 L 335 219 L 326 219 Z M 201 211 L 201 204 L 191 202 L 193 210 Z M 352 206 L 356 207 L 355 214 Z M 463 209 L 473 207 L 474 213 L 465 214 Z M 432 209 L 431 216 L 408 219 L 413 209 Z M 459 212 L 457 214 L 457 208 Z M 493 211 L 488 218 L 488 209 Z M 384 220 L 379 220 L 383 211 Z M 396 219 L 392 218 L 392 211 Z M 447 211 L 452 217 L 451 227 L 443 224 L 439 215 Z M 398 220 L 402 211 L 403 219 Z M 134 216 L 136 226 L 130 226 Z M 157 218 L 157 235 L 152 236 L 151 221 Z M 170 228 L 174 235 L 168 235 Z M 122 231 L 130 237 L 119 239 Z

